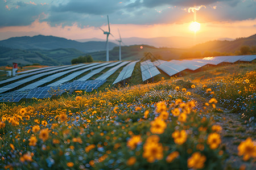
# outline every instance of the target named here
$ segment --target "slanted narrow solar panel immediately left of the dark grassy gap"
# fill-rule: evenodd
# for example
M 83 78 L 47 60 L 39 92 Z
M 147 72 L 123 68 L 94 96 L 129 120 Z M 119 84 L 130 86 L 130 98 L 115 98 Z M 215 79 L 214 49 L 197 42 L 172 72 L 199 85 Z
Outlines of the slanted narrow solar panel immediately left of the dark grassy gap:
M 139 61 L 133 61 L 129 63 L 127 66 L 123 67 L 123 70 L 121 71 L 121 73 L 119 73 L 117 79 L 115 79 L 113 84 L 129 78 L 131 74 L 133 74 L 133 70 L 137 62 Z

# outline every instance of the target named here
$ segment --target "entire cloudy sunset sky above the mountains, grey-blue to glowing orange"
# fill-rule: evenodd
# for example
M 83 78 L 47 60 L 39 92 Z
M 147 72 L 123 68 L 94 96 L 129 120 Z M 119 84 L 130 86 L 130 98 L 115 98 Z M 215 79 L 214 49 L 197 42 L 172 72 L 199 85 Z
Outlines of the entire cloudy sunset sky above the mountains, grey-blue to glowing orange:
M 118 37 L 193 37 L 192 8 L 201 24 L 197 37 L 247 37 L 256 33 L 256 0 L 0 0 L 0 40 L 52 35 L 67 39 Z M 200 8 L 200 9 L 199 9 Z M 113 37 L 110 37 L 110 39 Z

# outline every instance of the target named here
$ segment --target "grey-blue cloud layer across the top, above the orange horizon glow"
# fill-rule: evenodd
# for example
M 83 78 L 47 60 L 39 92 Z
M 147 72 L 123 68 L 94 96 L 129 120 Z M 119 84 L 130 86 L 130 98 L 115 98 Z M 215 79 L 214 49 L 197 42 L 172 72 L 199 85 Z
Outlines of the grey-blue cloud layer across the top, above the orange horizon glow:
M 186 23 L 193 20 L 193 14 L 187 12 L 188 8 L 201 5 L 206 7 L 197 12 L 197 19 L 202 23 L 254 19 L 256 16 L 256 2 L 241 0 L 45 0 L 41 4 L 35 2 L 0 1 L 0 27 L 30 25 L 36 19 L 51 26 L 77 24 L 81 28 L 104 27 L 107 22 L 106 15 L 109 15 L 111 24 Z

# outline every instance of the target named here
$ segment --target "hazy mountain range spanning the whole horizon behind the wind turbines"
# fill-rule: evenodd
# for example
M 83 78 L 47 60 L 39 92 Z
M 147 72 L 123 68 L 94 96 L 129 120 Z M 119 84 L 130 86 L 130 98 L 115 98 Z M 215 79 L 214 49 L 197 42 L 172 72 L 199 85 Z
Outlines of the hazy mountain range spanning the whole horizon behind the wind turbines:
M 160 46 L 169 46 L 174 37 L 155 38 L 155 39 L 138 39 L 129 38 L 123 39 L 125 45 L 127 42 L 132 42 L 138 45 L 122 46 L 122 59 L 140 59 L 145 52 L 151 52 L 154 56 L 162 59 L 179 59 L 181 54 L 185 52 L 235 52 L 240 50 L 241 46 L 256 45 L 256 35 L 240 38 L 232 41 L 214 40 L 203 42 L 189 48 L 156 48 L 150 43 L 160 44 Z M 67 40 L 54 36 L 34 36 L 34 37 L 13 37 L 7 40 L 0 41 L 0 66 L 11 65 L 13 62 L 20 63 L 20 65 L 31 65 L 32 63 L 40 63 L 41 65 L 67 65 L 71 64 L 73 58 L 90 54 L 94 60 L 105 61 L 105 40 L 90 39 L 88 42 L 78 42 L 75 40 Z M 129 40 L 129 41 L 128 41 Z M 166 44 L 170 40 L 170 44 Z M 187 43 L 187 38 L 179 38 L 176 44 L 183 42 Z M 149 45 L 147 45 L 147 43 Z M 164 44 L 165 43 L 165 44 Z M 146 44 L 146 45 L 145 45 Z M 109 43 L 110 46 L 110 60 L 117 60 L 119 48 L 113 42 Z M 143 46 L 143 49 L 140 47 Z

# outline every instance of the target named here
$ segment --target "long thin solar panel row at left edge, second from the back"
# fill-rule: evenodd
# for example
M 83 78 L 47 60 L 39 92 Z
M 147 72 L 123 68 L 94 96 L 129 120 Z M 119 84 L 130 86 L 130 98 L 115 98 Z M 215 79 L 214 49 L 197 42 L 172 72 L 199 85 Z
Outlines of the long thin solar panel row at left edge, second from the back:
M 6 91 L 9 91 L 9 90 L 12 90 L 13 88 L 19 87 L 19 86 L 21 86 L 22 84 L 25 84 L 25 83 L 27 83 L 27 82 L 31 82 L 32 80 L 36 80 L 36 79 L 41 78 L 41 77 L 43 77 L 43 76 L 47 76 L 47 75 L 49 75 L 49 74 L 57 73 L 57 72 L 59 72 L 59 71 L 64 71 L 64 70 L 73 69 L 73 68 L 75 68 L 75 67 L 81 67 L 81 66 L 84 66 L 84 65 L 85 65 L 85 64 L 74 65 L 74 66 L 70 66 L 70 67 L 65 67 L 65 68 L 63 68 L 63 69 L 58 69 L 58 70 L 49 71 L 49 72 L 46 72 L 46 73 L 41 73 L 41 74 L 33 75 L 33 76 L 28 77 L 28 78 L 19 80 L 19 81 L 17 81 L 17 82 L 8 84 L 8 85 L 3 86 L 3 87 L 0 87 L 0 93 L 3 93 L 3 92 L 6 92 Z M 25 87 L 26 87 L 26 86 L 25 86 Z M 24 90 L 24 89 L 23 89 L 23 90 Z

